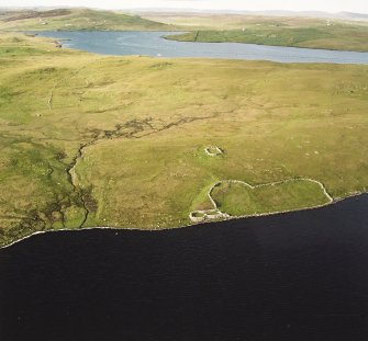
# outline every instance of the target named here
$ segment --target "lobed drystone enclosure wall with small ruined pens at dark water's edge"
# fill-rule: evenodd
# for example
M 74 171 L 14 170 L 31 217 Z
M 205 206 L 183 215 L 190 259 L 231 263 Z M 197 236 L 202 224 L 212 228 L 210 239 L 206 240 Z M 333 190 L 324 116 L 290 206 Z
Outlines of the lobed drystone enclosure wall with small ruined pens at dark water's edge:
M 259 187 L 265 187 L 265 186 L 274 186 L 274 185 L 278 185 L 278 184 L 283 184 L 283 183 L 290 183 L 290 182 L 297 182 L 297 181 L 309 181 L 309 182 L 313 182 L 316 183 L 323 194 L 327 197 L 328 203 L 326 204 L 322 204 L 322 205 L 316 205 L 316 206 L 312 206 L 310 208 L 317 208 L 317 207 L 322 207 L 325 206 L 327 204 L 331 204 L 334 202 L 334 198 L 328 194 L 326 187 L 324 186 L 324 184 L 320 181 L 310 179 L 310 178 L 298 178 L 298 179 L 287 179 L 287 180 L 281 180 L 281 181 L 276 181 L 276 182 L 269 182 L 269 183 L 263 183 L 263 184 L 258 184 L 258 185 L 252 185 L 245 181 L 241 181 L 241 180 L 221 180 L 218 181 L 213 186 L 211 186 L 211 189 L 208 192 L 208 197 L 212 204 L 212 206 L 214 208 L 212 209 L 204 209 L 204 211 L 192 211 L 189 214 L 189 219 L 192 223 L 203 223 L 208 219 L 221 219 L 221 218 L 246 218 L 246 217 L 256 217 L 256 216 L 265 216 L 265 215 L 271 215 L 271 214 L 279 214 L 279 213 L 287 213 L 287 212 L 292 212 L 292 211 L 300 211 L 299 208 L 295 209 L 288 209 L 288 211 L 277 211 L 277 212 L 266 212 L 266 213 L 261 213 L 261 214 L 250 214 L 250 215 L 242 215 L 242 216 L 231 216 L 227 213 L 223 213 L 220 211 L 216 202 L 214 201 L 214 198 L 212 197 L 212 192 L 216 186 L 220 186 L 223 183 L 239 183 L 243 184 L 245 186 L 247 186 L 250 190 L 255 190 L 255 189 L 259 189 Z

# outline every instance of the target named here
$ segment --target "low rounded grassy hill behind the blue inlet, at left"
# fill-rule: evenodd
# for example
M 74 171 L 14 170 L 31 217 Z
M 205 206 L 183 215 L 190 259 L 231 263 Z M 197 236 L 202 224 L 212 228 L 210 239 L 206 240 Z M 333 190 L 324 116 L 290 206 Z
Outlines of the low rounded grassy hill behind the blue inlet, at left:
M 60 9 L 0 13 L 0 30 L 4 31 L 168 31 L 175 26 L 112 11 Z

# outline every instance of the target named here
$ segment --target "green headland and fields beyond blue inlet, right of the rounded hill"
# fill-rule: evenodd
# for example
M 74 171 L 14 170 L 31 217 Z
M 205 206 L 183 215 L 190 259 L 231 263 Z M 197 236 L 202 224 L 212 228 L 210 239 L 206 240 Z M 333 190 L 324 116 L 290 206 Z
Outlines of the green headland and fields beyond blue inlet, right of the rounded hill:
M 368 52 L 367 22 L 244 15 L 153 18 L 167 23 L 197 26 L 194 32 L 168 37 L 182 42 L 236 42 Z

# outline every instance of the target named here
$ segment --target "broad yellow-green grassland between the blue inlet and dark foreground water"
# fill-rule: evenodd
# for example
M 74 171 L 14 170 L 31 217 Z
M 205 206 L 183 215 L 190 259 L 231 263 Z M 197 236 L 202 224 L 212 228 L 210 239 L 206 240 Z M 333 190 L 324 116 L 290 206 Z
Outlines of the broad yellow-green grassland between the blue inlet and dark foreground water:
M 222 180 L 364 192 L 367 80 L 368 66 L 102 57 L 1 34 L 0 245 L 37 230 L 186 226 L 213 208 Z M 216 190 L 233 215 L 325 202 L 306 182 Z

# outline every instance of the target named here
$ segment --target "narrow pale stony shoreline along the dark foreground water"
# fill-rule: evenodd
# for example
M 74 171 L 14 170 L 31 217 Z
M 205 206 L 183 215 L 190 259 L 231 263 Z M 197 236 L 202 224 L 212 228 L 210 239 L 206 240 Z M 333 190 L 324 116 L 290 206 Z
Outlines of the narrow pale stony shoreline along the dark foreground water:
M 207 220 L 207 221 L 201 221 L 201 223 L 192 223 L 189 225 L 183 225 L 183 226 L 174 226 L 174 227 L 164 227 L 160 229 L 154 229 L 154 228 L 149 228 L 149 229 L 142 229 L 142 228 L 132 228 L 132 227 L 109 227 L 109 226 L 96 226 L 96 227 L 83 227 L 83 228 L 60 228 L 60 229 L 51 229 L 51 230 L 44 230 L 44 231 L 35 231 L 29 236 L 25 236 L 23 238 L 20 238 L 18 240 L 14 240 L 8 245 L 4 246 L 0 246 L 0 251 L 2 249 L 7 249 L 10 248 L 23 240 L 30 239 L 34 236 L 37 235 L 44 235 L 44 234 L 56 234 L 56 232 L 60 232 L 60 231 L 75 231 L 75 232 L 80 232 L 80 231 L 85 231 L 85 230 L 112 230 L 112 231 L 137 231 L 137 232 L 161 232 L 161 231 L 167 231 L 167 230 L 174 230 L 174 229 L 183 229 L 183 228 L 188 228 L 188 227 L 196 227 L 196 226 L 208 226 L 211 225 L 213 223 L 222 223 L 222 221 L 230 221 L 230 220 L 238 220 L 238 219 L 248 219 L 248 218 L 258 218 L 258 217 L 267 217 L 267 216 L 276 216 L 276 215 L 285 215 L 288 213 L 295 213 L 295 212 L 304 212 L 304 211 L 312 211 L 312 209 L 319 209 L 319 208 L 324 208 L 324 207 L 328 207 L 335 204 L 338 204 L 345 200 L 348 198 L 353 198 L 353 197 L 358 197 L 360 195 L 365 195 L 367 194 L 367 192 L 354 192 L 354 193 L 349 193 L 344 197 L 338 197 L 335 198 L 333 202 L 328 202 L 326 204 L 320 205 L 320 206 L 314 206 L 314 207 L 305 207 L 305 208 L 301 208 L 301 209 L 293 209 L 293 211 L 286 211 L 286 212 L 275 212 L 275 213 L 264 213 L 264 214 L 258 214 L 258 215 L 252 215 L 252 216 L 231 216 L 228 218 L 224 218 L 224 219 L 220 219 L 220 220 Z

